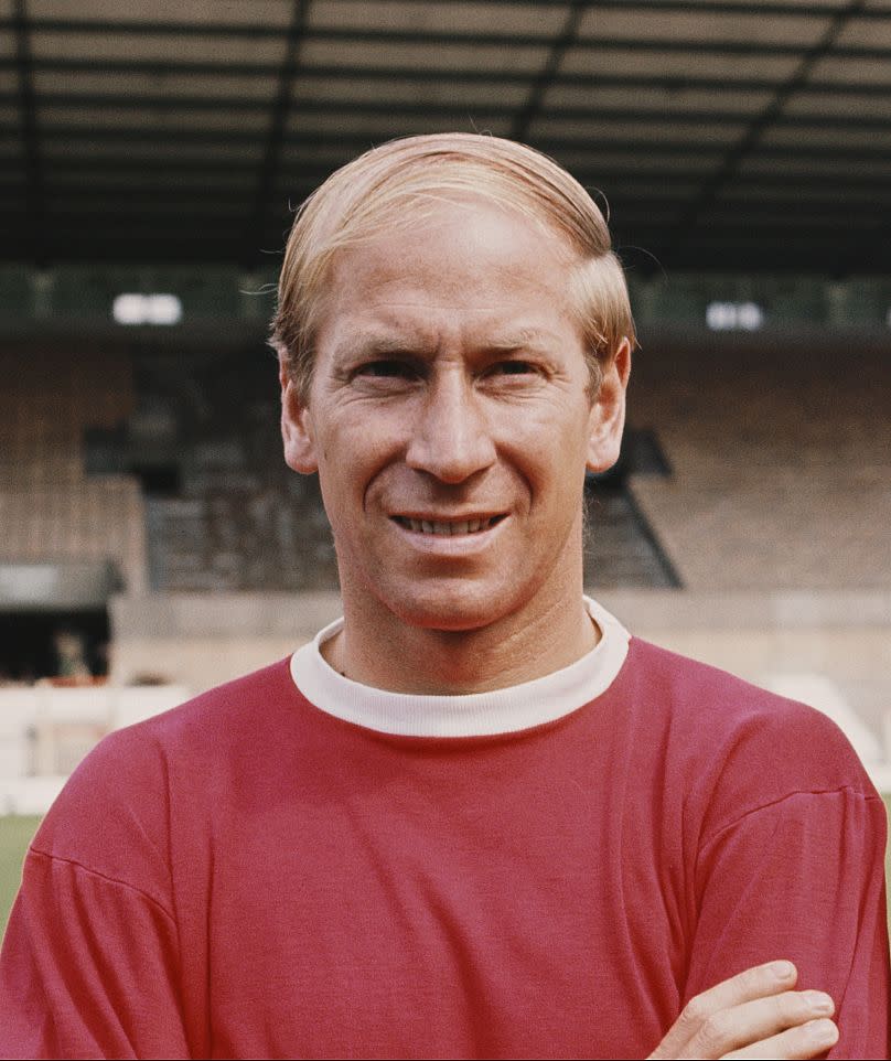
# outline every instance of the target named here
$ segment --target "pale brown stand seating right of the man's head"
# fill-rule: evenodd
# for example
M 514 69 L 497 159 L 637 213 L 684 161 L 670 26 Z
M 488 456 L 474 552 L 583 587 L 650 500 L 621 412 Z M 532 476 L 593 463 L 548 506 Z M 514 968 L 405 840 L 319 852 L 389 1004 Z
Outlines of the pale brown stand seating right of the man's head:
M 888 588 L 882 343 L 700 333 L 637 362 L 633 417 L 658 426 L 673 474 L 633 494 L 686 588 Z

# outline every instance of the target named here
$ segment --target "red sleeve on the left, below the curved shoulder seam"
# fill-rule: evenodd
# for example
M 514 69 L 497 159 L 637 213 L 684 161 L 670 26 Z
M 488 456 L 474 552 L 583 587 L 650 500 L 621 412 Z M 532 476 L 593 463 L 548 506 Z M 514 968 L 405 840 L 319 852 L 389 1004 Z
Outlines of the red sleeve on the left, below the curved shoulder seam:
M 187 1058 L 178 969 L 154 900 L 32 850 L 0 962 L 0 1054 Z

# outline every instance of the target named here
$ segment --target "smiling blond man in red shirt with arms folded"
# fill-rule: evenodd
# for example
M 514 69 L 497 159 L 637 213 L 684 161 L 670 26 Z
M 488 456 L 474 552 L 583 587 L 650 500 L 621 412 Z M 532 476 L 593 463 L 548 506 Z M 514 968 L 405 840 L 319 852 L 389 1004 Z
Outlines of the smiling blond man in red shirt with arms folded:
M 310 200 L 275 343 L 344 619 L 75 774 L 11 1053 L 885 1055 L 884 812 L 844 738 L 582 597 L 633 342 L 603 218 L 527 148 L 397 141 Z

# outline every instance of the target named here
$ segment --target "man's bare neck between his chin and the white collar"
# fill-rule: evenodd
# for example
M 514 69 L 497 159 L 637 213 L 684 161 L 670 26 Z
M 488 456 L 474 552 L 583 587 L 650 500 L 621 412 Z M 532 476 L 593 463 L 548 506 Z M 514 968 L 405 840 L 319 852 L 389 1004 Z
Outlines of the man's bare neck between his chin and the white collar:
M 573 574 L 551 580 L 517 610 L 460 631 L 412 625 L 344 586 L 344 626 L 323 655 L 353 682 L 393 693 L 460 695 L 532 682 L 600 641 L 582 601 L 580 558 Z

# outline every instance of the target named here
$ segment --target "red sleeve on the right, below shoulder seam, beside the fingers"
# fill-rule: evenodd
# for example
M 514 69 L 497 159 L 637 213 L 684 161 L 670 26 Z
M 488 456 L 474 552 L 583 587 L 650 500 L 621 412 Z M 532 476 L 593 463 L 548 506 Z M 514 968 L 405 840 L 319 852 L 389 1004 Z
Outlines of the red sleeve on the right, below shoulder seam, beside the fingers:
M 790 958 L 799 987 L 835 999 L 829 1057 L 888 1057 L 885 832 L 881 800 L 841 787 L 791 793 L 707 838 L 686 998 Z

